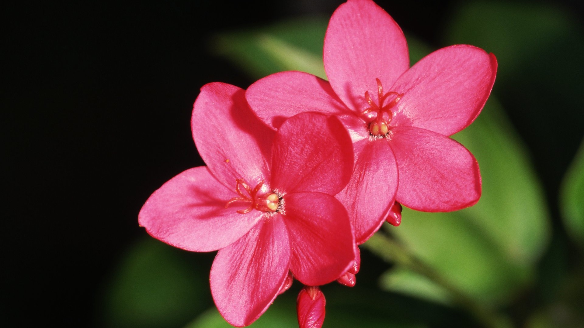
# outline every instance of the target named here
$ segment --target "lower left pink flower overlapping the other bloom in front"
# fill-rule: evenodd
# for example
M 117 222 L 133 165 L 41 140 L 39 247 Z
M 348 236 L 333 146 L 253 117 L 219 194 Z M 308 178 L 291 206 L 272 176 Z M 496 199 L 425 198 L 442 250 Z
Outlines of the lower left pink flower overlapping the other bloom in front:
M 355 258 L 343 205 L 333 196 L 350 178 L 353 150 L 335 117 L 294 116 L 277 133 L 249 110 L 244 90 L 203 86 L 193 138 L 207 166 L 155 191 L 138 221 L 165 243 L 219 250 L 211 292 L 234 326 L 256 320 L 294 274 L 305 285 L 340 277 Z

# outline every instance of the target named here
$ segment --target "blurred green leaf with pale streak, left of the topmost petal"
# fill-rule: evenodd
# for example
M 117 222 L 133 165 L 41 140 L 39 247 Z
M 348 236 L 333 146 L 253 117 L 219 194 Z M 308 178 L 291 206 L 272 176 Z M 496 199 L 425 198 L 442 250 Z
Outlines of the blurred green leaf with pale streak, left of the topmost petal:
M 220 34 L 213 44 L 253 78 L 297 70 L 326 78 L 322 45 L 328 19 L 297 19 L 244 32 Z

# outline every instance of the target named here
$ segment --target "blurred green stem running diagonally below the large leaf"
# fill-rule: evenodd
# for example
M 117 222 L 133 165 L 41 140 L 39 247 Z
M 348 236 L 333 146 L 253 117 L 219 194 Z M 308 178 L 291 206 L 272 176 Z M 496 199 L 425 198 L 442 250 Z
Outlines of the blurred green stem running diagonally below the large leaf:
M 470 312 L 475 317 L 475 319 L 481 322 L 482 326 L 485 328 L 512 327 L 512 324 L 507 317 L 501 315 L 500 313 L 493 312 L 492 309 L 482 305 L 475 299 L 465 294 L 450 281 L 444 279 L 444 277 L 437 273 L 436 270 L 409 252 L 409 250 L 406 249 L 404 245 L 401 245 L 401 243 L 390 238 L 389 236 L 378 232 L 369 240 L 367 240 L 363 246 L 369 249 L 371 252 L 377 254 L 377 256 L 381 257 L 381 259 L 422 274 L 437 285 L 440 285 L 442 288 L 449 291 L 453 296 L 454 302 L 468 310 L 468 312 Z

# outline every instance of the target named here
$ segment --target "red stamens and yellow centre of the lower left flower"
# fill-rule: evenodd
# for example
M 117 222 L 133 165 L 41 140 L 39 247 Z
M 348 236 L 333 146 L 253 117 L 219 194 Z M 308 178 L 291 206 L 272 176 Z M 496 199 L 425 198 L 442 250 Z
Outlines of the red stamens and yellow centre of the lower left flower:
M 258 211 L 263 212 L 277 212 L 279 211 L 281 205 L 281 197 L 278 196 L 276 193 L 266 193 L 262 196 L 258 196 L 258 192 L 262 189 L 263 180 L 262 182 L 258 183 L 254 189 L 249 187 L 243 179 L 235 180 L 237 184 L 235 184 L 235 192 L 241 197 L 234 197 L 231 198 L 227 204 L 225 204 L 225 208 L 229 207 L 229 205 L 235 203 L 236 201 L 242 201 L 244 203 L 249 203 L 249 207 L 245 208 L 245 210 L 238 210 L 239 214 L 246 214 L 251 212 L 254 208 Z M 247 194 L 244 193 L 243 189 L 246 191 Z

